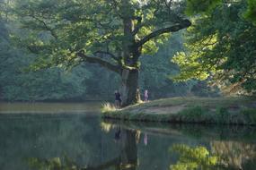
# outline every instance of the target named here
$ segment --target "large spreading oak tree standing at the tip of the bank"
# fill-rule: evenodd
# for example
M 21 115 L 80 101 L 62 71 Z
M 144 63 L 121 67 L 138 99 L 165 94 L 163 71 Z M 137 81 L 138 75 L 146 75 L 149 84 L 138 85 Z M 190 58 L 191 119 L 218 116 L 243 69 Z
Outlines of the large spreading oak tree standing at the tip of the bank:
M 40 56 L 33 69 L 99 64 L 120 75 L 123 106 L 138 99 L 139 57 L 191 24 L 182 14 L 184 2 L 175 0 L 14 0 L 12 5 L 27 30 L 21 44 Z

